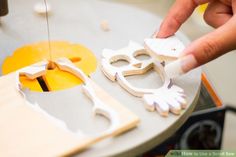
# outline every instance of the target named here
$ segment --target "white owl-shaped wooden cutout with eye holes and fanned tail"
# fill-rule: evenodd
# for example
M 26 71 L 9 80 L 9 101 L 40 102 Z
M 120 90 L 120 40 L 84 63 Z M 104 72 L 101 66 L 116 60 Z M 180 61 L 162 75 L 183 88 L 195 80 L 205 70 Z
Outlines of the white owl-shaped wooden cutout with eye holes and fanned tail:
M 169 111 L 180 114 L 186 108 L 184 90 L 174 85 L 164 71 L 164 62 L 158 62 L 153 58 L 137 60 L 138 55 L 150 55 L 145 48 L 130 41 L 129 45 L 120 50 L 103 50 L 102 71 L 111 80 L 117 81 L 125 90 L 134 96 L 142 97 L 149 111 L 158 111 L 162 116 L 168 116 Z M 122 67 L 113 66 L 112 63 L 124 60 L 128 65 Z M 153 68 L 163 80 L 163 85 L 158 89 L 144 89 L 131 85 L 126 76 L 142 75 Z

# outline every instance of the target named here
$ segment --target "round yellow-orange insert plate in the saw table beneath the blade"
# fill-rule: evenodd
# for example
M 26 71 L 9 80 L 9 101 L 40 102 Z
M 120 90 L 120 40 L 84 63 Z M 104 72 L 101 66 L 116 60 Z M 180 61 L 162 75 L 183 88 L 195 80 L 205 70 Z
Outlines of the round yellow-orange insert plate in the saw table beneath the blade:
M 86 75 L 90 75 L 96 70 L 96 57 L 89 49 L 80 44 L 51 41 L 51 51 L 53 60 L 62 57 L 68 58 L 76 67 L 83 70 Z M 18 48 L 12 56 L 4 60 L 2 73 L 8 74 L 45 59 L 49 60 L 48 42 L 25 45 Z M 40 92 L 45 91 L 45 89 L 42 88 L 42 82 L 49 91 L 63 90 L 82 83 L 82 81 L 75 76 L 60 71 L 57 67 L 52 70 L 47 70 L 46 75 L 41 78 L 30 80 L 25 76 L 21 76 L 20 81 L 25 88 Z

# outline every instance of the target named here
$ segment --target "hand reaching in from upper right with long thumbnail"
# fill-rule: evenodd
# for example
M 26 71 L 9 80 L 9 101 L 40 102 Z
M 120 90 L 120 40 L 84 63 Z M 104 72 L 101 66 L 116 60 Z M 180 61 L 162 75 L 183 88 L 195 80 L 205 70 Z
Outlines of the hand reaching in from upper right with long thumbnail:
M 236 49 L 236 0 L 176 0 L 155 36 L 173 35 L 194 9 L 204 3 L 208 3 L 204 20 L 216 29 L 189 44 L 182 52 L 178 59 L 182 73 Z M 172 68 L 175 65 L 173 63 Z

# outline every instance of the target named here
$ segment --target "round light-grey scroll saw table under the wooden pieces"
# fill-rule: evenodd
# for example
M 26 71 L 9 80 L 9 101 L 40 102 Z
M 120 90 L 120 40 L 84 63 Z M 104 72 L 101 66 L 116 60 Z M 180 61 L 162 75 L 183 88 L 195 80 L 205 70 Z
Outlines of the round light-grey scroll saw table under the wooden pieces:
M 9 0 L 10 13 L 1 19 L 0 25 L 0 66 L 5 57 L 29 43 L 47 39 L 45 19 L 38 16 L 33 7 L 37 0 Z M 160 25 L 161 19 L 132 3 L 153 5 L 152 0 L 145 1 L 110 1 L 110 0 L 49 0 L 51 5 L 50 27 L 52 40 L 80 43 L 92 50 L 98 63 L 101 61 L 103 48 L 119 49 L 129 40 L 142 44 Z M 121 3 L 122 2 L 122 3 Z M 155 3 L 157 9 L 158 2 Z M 110 31 L 100 28 L 101 21 L 108 21 Z M 177 36 L 187 44 L 188 39 L 181 33 Z M 119 100 L 140 117 L 137 128 L 109 140 L 95 144 L 78 157 L 122 156 L 130 157 L 143 153 L 160 144 L 173 134 L 190 116 L 198 99 L 201 82 L 201 70 L 196 69 L 175 80 L 187 95 L 188 107 L 180 116 L 170 114 L 161 117 L 156 112 L 148 112 L 141 98 L 136 98 L 124 91 L 118 84 L 108 80 L 98 65 L 91 78 L 111 96 Z M 159 87 L 161 80 L 153 72 L 144 76 L 131 76 L 129 81 L 138 87 Z M 94 134 L 105 130 L 109 122 L 102 117 L 92 117 L 91 102 L 84 98 L 80 86 L 64 91 L 50 93 L 28 92 L 32 102 L 49 114 L 66 122 L 73 131 L 81 128 L 84 132 Z M 22 122 L 24 123 L 24 122 Z M 50 148 L 48 148 L 50 149 Z

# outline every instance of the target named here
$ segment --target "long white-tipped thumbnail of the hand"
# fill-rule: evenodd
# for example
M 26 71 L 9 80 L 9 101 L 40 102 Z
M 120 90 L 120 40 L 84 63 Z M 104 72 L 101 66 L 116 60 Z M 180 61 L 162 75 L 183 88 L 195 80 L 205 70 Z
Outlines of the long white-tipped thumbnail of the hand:
M 197 60 L 193 55 L 187 55 L 166 65 L 165 72 L 167 77 L 176 78 L 198 66 Z

